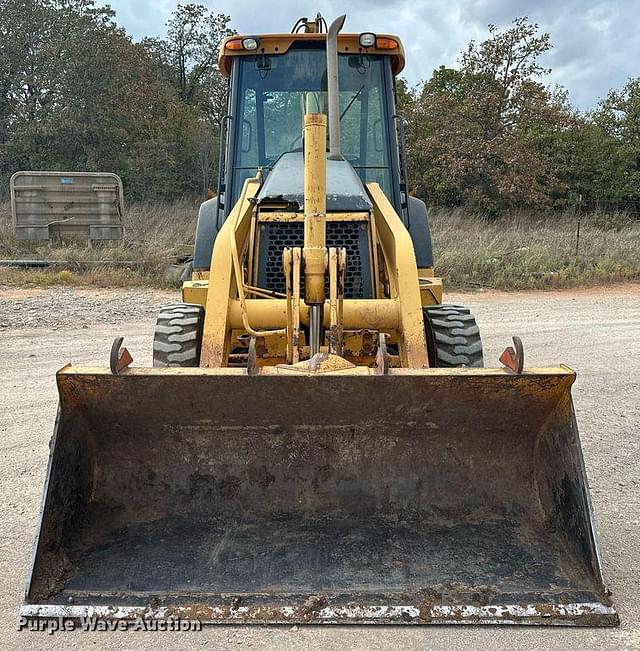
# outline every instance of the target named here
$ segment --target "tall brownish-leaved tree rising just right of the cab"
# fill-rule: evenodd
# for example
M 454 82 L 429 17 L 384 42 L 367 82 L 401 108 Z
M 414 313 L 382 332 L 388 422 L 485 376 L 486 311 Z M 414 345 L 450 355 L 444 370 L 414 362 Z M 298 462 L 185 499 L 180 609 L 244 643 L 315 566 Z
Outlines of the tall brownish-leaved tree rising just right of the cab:
M 490 214 L 549 205 L 541 132 L 566 126 L 565 96 L 539 78 L 548 34 L 526 18 L 472 41 L 460 67 L 440 67 L 414 95 L 411 128 L 419 190 L 431 203 L 467 204 Z

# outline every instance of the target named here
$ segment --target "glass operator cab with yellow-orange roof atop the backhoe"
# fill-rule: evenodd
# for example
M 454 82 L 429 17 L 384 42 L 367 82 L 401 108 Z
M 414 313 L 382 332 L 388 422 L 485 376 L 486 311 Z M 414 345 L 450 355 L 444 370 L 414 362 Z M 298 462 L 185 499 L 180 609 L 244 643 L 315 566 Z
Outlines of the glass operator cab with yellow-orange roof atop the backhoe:
M 305 25 L 309 29 L 314 23 Z M 380 184 L 404 217 L 406 184 L 394 100 L 402 46 L 396 37 L 341 34 L 338 52 L 342 156 L 362 183 Z M 226 217 L 246 179 L 259 169 L 268 178 L 285 155 L 289 165 L 302 157 L 304 114 L 327 113 L 326 35 L 234 36 L 221 49 L 220 69 L 230 77 L 218 193 Z M 329 199 L 330 187 L 327 193 Z

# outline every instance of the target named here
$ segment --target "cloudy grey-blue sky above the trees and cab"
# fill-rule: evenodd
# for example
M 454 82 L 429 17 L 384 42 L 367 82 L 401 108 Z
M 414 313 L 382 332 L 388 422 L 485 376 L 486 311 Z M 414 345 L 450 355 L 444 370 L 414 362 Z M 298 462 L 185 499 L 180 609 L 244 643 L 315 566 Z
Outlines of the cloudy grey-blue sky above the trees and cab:
M 161 35 L 178 0 L 106 0 L 118 22 L 139 39 Z M 186 2 L 186 0 L 184 0 Z M 589 109 L 611 87 L 640 76 L 640 0 L 200 0 L 231 15 L 240 33 L 289 31 L 301 15 L 320 11 L 328 22 L 347 11 L 345 31 L 398 34 L 407 50 L 405 76 L 418 83 L 441 64 L 454 65 L 471 39 L 482 40 L 487 25 L 508 25 L 529 16 L 550 32 L 553 50 L 544 65 L 550 83 L 565 86 L 572 103 Z

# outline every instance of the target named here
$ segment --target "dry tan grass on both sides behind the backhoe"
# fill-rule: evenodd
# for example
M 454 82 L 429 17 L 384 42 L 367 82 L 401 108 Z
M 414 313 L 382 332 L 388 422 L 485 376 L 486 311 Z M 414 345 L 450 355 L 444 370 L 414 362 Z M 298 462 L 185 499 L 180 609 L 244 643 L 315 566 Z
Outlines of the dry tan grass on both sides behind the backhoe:
M 132 205 L 124 245 L 34 245 L 13 238 L 8 204 L 0 205 L 0 258 L 65 260 L 63 269 L 0 268 L 0 284 L 99 287 L 179 285 L 176 257 L 192 251 L 197 202 Z M 640 222 L 624 215 L 518 213 L 495 221 L 462 210 L 431 212 L 436 272 L 448 288 L 560 288 L 640 280 Z M 132 267 L 100 266 L 106 260 Z M 97 266 L 93 266 L 96 265 Z

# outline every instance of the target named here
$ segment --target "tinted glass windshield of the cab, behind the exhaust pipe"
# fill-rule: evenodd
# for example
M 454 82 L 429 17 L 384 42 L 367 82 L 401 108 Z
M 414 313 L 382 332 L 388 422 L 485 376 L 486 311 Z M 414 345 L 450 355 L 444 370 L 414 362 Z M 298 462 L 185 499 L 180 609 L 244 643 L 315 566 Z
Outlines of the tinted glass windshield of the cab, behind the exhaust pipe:
M 327 66 L 323 47 L 295 44 L 285 55 L 238 57 L 234 110 L 232 201 L 258 167 L 271 167 L 302 148 L 305 112 L 327 112 Z M 390 146 L 386 102 L 387 58 L 338 57 L 342 155 L 363 182 L 375 181 L 390 196 Z

